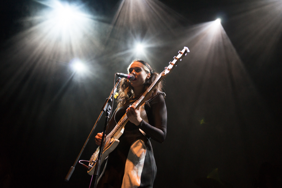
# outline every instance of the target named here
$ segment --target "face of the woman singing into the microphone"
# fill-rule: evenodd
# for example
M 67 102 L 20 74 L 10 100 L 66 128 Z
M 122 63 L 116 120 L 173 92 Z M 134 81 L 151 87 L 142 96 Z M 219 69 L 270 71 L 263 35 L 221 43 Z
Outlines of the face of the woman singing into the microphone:
M 146 78 L 150 78 L 150 73 L 147 73 L 143 68 L 143 64 L 138 61 L 133 62 L 128 70 L 135 77 L 134 80 L 130 81 L 133 88 L 143 87 Z

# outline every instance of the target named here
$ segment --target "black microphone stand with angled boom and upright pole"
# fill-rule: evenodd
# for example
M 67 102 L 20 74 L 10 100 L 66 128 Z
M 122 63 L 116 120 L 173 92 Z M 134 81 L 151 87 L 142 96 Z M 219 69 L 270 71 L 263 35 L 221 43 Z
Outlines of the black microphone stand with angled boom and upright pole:
M 106 112 L 107 114 L 106 114 L 106 120 L 105 120 L 105 125 L 104 125 L 103 136 L 102 136 L 102 142 L 101 142 L 101 146 L 100 146 L 100 152 L 99 152 L 99 155 L 98 155 L 98 160 L 97 160 L 97 162 L 96 162 L 96 167 L 95 167 L 95 171 L 94 171 L 94 174 L 93 174 L 93 176 L 95 176 L 94 185 L 95 185 L 95 187 L 96 187 L 97 179 L 98 179 L 98 174 L 99 174 L 99 171 L 100 171 L 100 158 L 101 158 L 101 155 L 102 155 L 102 152 L 101 152 L 101 151 L 103 151 L 103 149 L 104 149 L 105 133 L 106 133 L 106 130 L 107 130 L 109 115 L 110 115 L 110 112 L 111 112 L 111 110 L 112 110 L 112 109 L 111 109 L 111 106 L 110 106 L 110 103 L 113 102 L 113 101 L 112 101 L 112 98 L 113 98 L 114 93 L 117 91 L 117 85 L 120 83 L 120 80 L 121 80 L 121 78 L 118 77 L 117 83 L 115 84 L 115 87 L 113 88 L 113 90 L 112 90 L 112 92 L 111 92 L 109 98 L 106 99 L 106 101 L 105 101 L 103 107 L 101 108 L 101 113 L 100 113 L 98 119 L 96 120 L 96 122 L 95 122 L 95 124 L 94 124 L 94 126 L 93 126 L 93 128 L 92 128 L 92 130 L 91 130 L 91 132 L 90 132 L 90 134 L 89 134 L 89 136 L 88 136 L 88 138 L 86 139 L 86 141 L 85 141 L 85 143 L 84 143 L 82 149 L 80 150 L 80 153 L 78 154 L 78 157 L 76 158 L 76 160 L 75 160 L 73 166 L 70 167 L 70 170 L 68 171 L 68 174 L 67 174 L 67 176 L 65 177 L 65 181 L 66 181 L 66 182 L 68 182 L 68 180 L 70 179 L 71 175 L 73 174 L 73 171 L 74 171 L 74 169 L 75 169 L 75 166 L 76 166 L 76 164 L 78 163 L 78 160 L 79 160 L 79 158 L 80 158 L 80 156 L 81 156 L 81 154 L 82 154 L 82 152 L 83 152 L 83 150 L 84 150 L 86 144 L 88 143 L 88 141 L 89 141 L 91 135 L 93 134 L 93 131 L 95 130 L 95 128 L 96 128 L 96 126 L 97 126 L 97 124 L 98 124 L 98 122 L 99 122 L 101 116 L 103 115 L 104 112 Z

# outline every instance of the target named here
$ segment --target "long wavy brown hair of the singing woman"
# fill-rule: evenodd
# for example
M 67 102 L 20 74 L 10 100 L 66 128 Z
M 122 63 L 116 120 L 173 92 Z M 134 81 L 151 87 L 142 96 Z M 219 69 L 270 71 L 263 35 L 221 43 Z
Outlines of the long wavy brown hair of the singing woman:
M 130 63 L 130 65 L 127 68 L 128 74 L 129 74 L 129 68 L 130 68 L 131 64 L 136 62 L 136 61 L 143 64 L 143 69 L 146 71 L 146 73 L 150 73 L 151 74 L 150 78 L 145 80 L 144 90 L 142 92 L 142 93 L 144 93 L 150 87 L 150 85 L 155 81 L 155 79 L 158 77 L 159 74 L 156 73 L 156 72 L 153 72 L 153 70 L 152 70 L 151 66 L 149 65 L 149 63 L 147 63 L 145 61 L 142 61 L 140 59 L 135 59 L 135 60 L 133 60 Z M 155 96 L 157 96 L 158 93 L 162 92 L 162 88 L 163 88 L 163 83 L 161 81 L 157 85 L 157 87 L 153 90 L 153 92 L 148 97 L 146 102 L 148 102 L 150 99 L 152 99 Z M 133 96 L 134 96 L 134 89 L 130 85 L 130 81 L 128 79 L 126 79 L 126 78 L 122 78 L 121 81 L 120 81 L 120 85 L 119 85 L 119 92 L 118 92 L 118 97 L 117 97 L 117 108 L 120 108 L 125 103 L 127 103 L 130 100 L 132 100 Z M 141 95 L 139 97 L 141 97 Z

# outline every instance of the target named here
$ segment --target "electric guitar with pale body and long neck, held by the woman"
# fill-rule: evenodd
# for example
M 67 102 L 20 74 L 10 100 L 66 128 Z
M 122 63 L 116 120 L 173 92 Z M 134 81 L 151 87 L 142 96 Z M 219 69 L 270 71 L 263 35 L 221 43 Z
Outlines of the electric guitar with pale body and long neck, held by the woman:
M 139 98 L 139 100 L 135 101 L 135 103 L 132 104 L 134 108 L 139 108 L 142 104 L 144 104 L 147 100 L 147 98 L 150 96 L 152 91 L 156 88 L 156 86 L 160 83 L 160 81 L 165 78 L 170 71 L 172 71 L 177 63 L 181 61 L 182 57 L 186 56 L 186 53 L 189 52 L 189 49 L 187 47 L 184 47 L 182 51 L 179 51 L 177 56 L 174 56 L 174 60 L 172 62 L 169 62 L 169 66 L 165 68 L 165 70 L 160 73 L 160 75 L 155 79 L 155 81 L 150 85 L 150 87 L 143 93 L 143 95 Z M 101 163 L 104 162 L 104 160 L 108 157 L 108 155 L 115 150 L 117 145 L 119 144 L 119 138 L 123 134 L 123 130 L 125 127 L 125 124 L 128 122 L 126 114 L 122 116 L 120 121 L 117 123 L 115 128 L 108 134 L 106 135 L 105 138 L 105 147 L 102 152 L 102 157 L 101 157 Z M 94 169 L 96 165 L 96 160 L 98 158 L 98 154 L 100 151 L 100 147 L 97 148 L 97 150 L 93 153 L 89 160 L 89 165 L 88 165 L 88 171 L 87 173 L 90 175 L 94 174 Z

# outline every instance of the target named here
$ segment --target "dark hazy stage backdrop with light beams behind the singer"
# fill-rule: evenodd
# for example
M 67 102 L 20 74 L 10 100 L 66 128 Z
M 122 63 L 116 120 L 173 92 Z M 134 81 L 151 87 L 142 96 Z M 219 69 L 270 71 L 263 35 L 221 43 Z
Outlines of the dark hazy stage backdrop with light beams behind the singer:
M 78 43 L 66 44 L 70 52 L 60 48 L 62 39 L 44 40 L 46 33 L 36 30 L 36 16 L 48 6 L 0 2 L 0 187 L 88 187 L 80 164 L 69 182 L 64 178 L 114 73 L 126 73 L 134 58 L 161 72 L 183 46 L 190 53 L 165 78 L 167 137 L 152 141 L 154 187 L 199 187 L 195 179 L 214 169 L 225 185 L 254 187 L 263 164 L 274 178 L 270 186 L 281 186 L 282 2 L 147 1 L 158 2 L 157 16 L 150 9 L 138 19 L 134 7 L 113 22 L 120 2 L 79 1 L 95 23 Z M 129 16 L 137 19 L 126 22 Z M 217 17 L 222 26 L 214 31 Z M 146 55 L 130 51 L 133 39 L 149 41 Z M 73 74 L 73 58 L 91 74 Z M 103 119 L 94 134 L 102 126 Z M 93 136 L 81 159 L 95 150 Z

